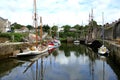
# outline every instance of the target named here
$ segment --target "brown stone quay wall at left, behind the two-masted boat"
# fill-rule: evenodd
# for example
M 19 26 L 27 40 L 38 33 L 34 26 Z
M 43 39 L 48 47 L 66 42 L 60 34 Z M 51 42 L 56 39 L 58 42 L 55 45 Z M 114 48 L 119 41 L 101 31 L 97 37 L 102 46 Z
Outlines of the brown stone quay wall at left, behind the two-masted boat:
M 27 42 L 17 42 L 17 43 L 0 43 L 0 59 L 8 58 L 12 56 L 19 49 L 24 49 L 29 46 Z

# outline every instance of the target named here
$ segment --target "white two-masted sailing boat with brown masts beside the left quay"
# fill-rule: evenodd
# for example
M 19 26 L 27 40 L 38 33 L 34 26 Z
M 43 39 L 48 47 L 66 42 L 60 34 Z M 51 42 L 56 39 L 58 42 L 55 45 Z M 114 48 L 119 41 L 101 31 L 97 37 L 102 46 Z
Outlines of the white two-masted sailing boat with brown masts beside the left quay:
M 41 24 L 41 28 L 40 28 L 40 40 L 42 40 L 42 17 L 40 17 L 40 24 Z M 38 55 L 44 52 L 48 51 L 48 46 L 45 45 L 43 46 L 42 44 L 38 45 L 38 27 L 37 27 L 37 13 L 36 13 L 36 0 L 34 0 L 34 27 L 35 27 L 35 31 L 36 31 L 36 45 L 32 46 L 31 48 L 29 48 L 27 51 L 23 52 L 21 51 L 19 54 L 17 54 L 17 56 L 31 56 L 31 55 Z

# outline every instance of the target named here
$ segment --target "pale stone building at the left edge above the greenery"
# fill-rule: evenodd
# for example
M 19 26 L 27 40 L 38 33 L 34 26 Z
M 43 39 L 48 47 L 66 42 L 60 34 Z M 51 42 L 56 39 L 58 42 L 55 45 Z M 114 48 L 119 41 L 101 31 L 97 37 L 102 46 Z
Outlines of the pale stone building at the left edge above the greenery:
M 11 30 L 10 25 L 11 22 L 8 21 L 8 19 L 0 17 L 0 32 L 4 33 L 10 31 Z

